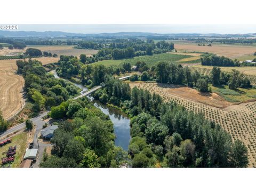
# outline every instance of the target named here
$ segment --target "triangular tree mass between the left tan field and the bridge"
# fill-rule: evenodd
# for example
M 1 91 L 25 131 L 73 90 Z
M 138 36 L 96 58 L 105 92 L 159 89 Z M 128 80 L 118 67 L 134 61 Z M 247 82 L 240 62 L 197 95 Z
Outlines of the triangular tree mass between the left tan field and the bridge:
M 37 60 L 18 60 L 17 66 L 17 73 L 25 79 L 27 98 L 34 103 L 35 111 L 60 105 L 79 94 L 79 89 L 73 84 L 46 73 L 42 63 Z

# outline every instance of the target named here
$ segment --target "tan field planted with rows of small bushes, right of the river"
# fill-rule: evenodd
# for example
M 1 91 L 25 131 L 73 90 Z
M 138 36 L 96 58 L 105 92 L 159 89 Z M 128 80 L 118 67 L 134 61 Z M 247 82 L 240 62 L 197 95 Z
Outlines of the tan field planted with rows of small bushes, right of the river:
M 199 95 L 196 99 L 191 99 L 190 94 L 195 95 L 195 93 L 185 95 L 186 92 L 173 91 L 171 87 L 161 87 L 157 83 L 130 83 L 130 86 L 137 86 L 151 93 L 158 93 L 165 102 L 173 100 L 187 110 L 202 113 L 205 118 L 220 124 L 223 129 L 230 133 L 233 140 L 239 139 L 245 143 L 249 153 L 249 166 L 256 167 L 256 101 L 218 108 L 211 106 L 211 101 L 207 104 L 201 100 L 197 101 L 202 97 L 208 100 L 207 95 Z M 221 102 L 219 98 L 215 100 Z

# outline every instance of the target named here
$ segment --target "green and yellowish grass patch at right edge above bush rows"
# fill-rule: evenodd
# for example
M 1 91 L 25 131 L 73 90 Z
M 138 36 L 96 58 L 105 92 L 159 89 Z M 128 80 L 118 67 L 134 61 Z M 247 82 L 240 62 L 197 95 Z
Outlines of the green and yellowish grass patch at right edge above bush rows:
M 226 99 L 227 101 L 230 102 L 243 102 L 243 101 L 248 101 L 255 99 L 256 100 L 256 89 L 243 89 L 239 88 L 237 90 L 230 90 L 228 89 L 228 85 L 224 86 L 211 86 L 212 92 L 218 93 Z

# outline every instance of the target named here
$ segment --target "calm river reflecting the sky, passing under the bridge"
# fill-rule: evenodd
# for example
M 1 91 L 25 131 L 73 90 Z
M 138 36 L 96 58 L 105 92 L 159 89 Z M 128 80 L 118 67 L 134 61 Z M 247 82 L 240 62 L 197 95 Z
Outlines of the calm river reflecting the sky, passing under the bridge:
M 60 78 L 56 74 L 55 70 L 51 71 L 51 73 L 54 75 L 55 78 Z M 68 81 L 68 79 L 65 80 Z M 81 94 L 88 90 L 87 87 L 83 86 L 82 84 L 73 84 L 82 90 Z M 115 145 L 122 147 L 124 150 L 128 150 L 129 142 L 131 140 L 130 119 L 121 111 L 113 107 L 103 105 L 102 103 L 95 101 L 91 96 L 89 96 L 88 98 L 93 102 L 95 107 L 99 108 L 104 114 L 109 115 L 111 122 L 114 124 L 114 132 L 116 135 Z

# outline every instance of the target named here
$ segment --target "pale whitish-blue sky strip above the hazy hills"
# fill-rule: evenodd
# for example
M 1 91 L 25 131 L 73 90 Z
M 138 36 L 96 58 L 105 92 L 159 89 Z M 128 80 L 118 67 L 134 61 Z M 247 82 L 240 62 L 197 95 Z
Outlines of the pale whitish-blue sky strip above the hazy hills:
M 18 25 L 21 31 L 63 31 L 68 33 L 98 34 L 117 32 L 149 32 L 159 34 L 172 33 L 218 33 L 246 34 L 256 33 L 256 25 Z

